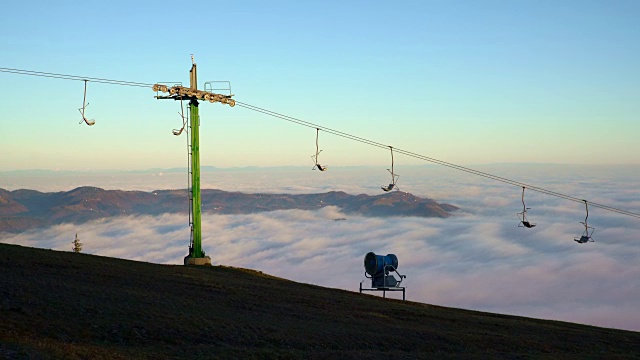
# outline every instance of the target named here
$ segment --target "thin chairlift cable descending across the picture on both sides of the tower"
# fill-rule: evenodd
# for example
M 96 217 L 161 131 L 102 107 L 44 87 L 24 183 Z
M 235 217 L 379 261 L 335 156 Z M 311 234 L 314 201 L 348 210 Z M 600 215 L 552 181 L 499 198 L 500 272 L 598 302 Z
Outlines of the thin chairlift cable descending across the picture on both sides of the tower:
M 123 80 L 113 80 L 113 79 L 104 79 L 104 78 L 92 78 L 92 77 L 86 77 L 86 76 L 76 76 L 76 75 L 66 75 L 66 74 L 56 74 L 56 73 L 49 73 L 49 72 L 41 72 L 41 71 L 32 71 L 32 70 L 22 70 L 22 69 L 12 69 L 12 68 L 2 68 L 0 67 L 0 72 L 5 72 L 5 73 L 12 73 L 12 74 L 18 74 L 18 75 L 30 75 L 30 76 L 39 76 L 39 77 L 47 77 L 47 78 L 55 78 L 55 79 L 64 79 L 64 80 L 76 80 L 76 81 L 93 81 L 93 82 L 97 82 L 97 83 L 104 83 L 104 84 L 112 84 L 112 85 L 122 85 L 122 86 L 136 86 L 136 87 L 152 87 L 154 84 L 151 83 L 141 83 L 141 82 L 133 82 L 133 81 L 123 81 Z M 388 149 L 389 145 L 377 142 L 377 141 L 373 141 L 373 140 L 369 140 L 366 138 L 362 138 L 359 136 L 355 136 L 349 133 L 345 133 L 342 131 L 338 131 L 335 129 L 331 129 L 328 127 L 324 127 L 324 126 L 320 126 L 318 124 L 314 124 L 308 121 L 304 121 L 302 119 L 298 119 L 292 116 L 287 116 L 275 111 L 271 111 L 271 110 L 267 110 L 265 108 L 261 108 L 255 105 L 251 105 L 251 104 L 247 104 L 244 102 L 240 102 L 236 100 L 236 105 L 246 108 L 248 110 L 253 110 L 265 115 L 269 115 L 275 118 L 279 118 L 285 121 L 289 121 L 298 125 L 302 125 L 302 126 L 306 126 L 306 127 L 310 127 L 310 128 L 315 128 L 318 130 L 322 130 L 324 132 L 336 135 L 336 136 L 340 136 L 343 137 L 345 139 L 349 139 L 349 140 L 353 140 L 353 141 L 357 141 L 363 144 L 367 144 L 370 146 L 374 146 L 374 147 L 378 147 L 378 148 L 382 148 L 382 149 Z M 526 187 L 529 190 L 532 191 L 536 191 L 542 194 L 546 194 L 546 195 L 550 195 L 550 196 L 554 196 L 554 197 L 558 197 L 561 199 L 565 199 L 565 200 L 569 200 L 569 201 L 574 201 L 574 202 L 578 202 L 578 203 L 584 203 L 585 200 L 584 199 L 580 199 L 574 196 L 570 196 L 570 195 L 565 195 L 559 192 L 555 192 L 555 191 L 551 191 L 551 190 L 547 190 L 538 186 L 533 186 L 533 185 L 529 185 L 520 181 L 516 181 L 516 180 L 512 180 L 512 179 L 508 179 L 505 177 L 501 177 L 501 176 L 497 176 L 497 175 L 493 175 L 490 173 L 486 173 L 483 171 L 479 171 L 479 170 L 474 170 L 465 166 L 461 166 L 461 165 L 456 165 L 453 163 L 449 163 L 443 160 L 439 160 L 436 158 L 432 158 L 429 156 L 425 156 L 425 155 L 421 155 L 418 153 L 414 153 L 408 150 L 403 150 L 397 147 L 393 148 L 395 150 L 396 153 L 399 154 L 403 154 L 405 156 L 409 156 L 415 159 L 419 159 L 419 160 L 424 160 L 427 162 L 431 162 L 434 164 L 438 164 L 438 165 L 442 165 L 451 169 L 455 169 L 455 170 L 459 170 L 459 171 L 463 171 L 469 174 L 473 174 L 476 176 L 481 176 L 487 179 L 491 179 L 491 180 L 495 180 L 495 181 L 499 181 L 505 184 L 509 184 L 509 185 L 513 185 L 513 186 L 517 186 L 517 187 Z M 623 209 L 619 209 L 619 208 L 615 208 L 612 206 L 608 206 L 608 205 L 604 205 L 604 204 L 599 204 L 599 203 L 595 203 L 595 202 L 591 202 L 589 201 L 589 204 L 592 207 L 596 207 L 596 208 L 600 208 L 603 210 L 607 210 L 607 211 L 611 211 L 611 212 L 615 212 L 621 215 L 626 215 L 626 216 L 631 216 L 631 217 L 635 217 L 635 218 L 640 218 L 640 213 L 635 213 L 635 212 L 631 212 L 631 211 L 627 211 L 627 210 L 623 210 Z

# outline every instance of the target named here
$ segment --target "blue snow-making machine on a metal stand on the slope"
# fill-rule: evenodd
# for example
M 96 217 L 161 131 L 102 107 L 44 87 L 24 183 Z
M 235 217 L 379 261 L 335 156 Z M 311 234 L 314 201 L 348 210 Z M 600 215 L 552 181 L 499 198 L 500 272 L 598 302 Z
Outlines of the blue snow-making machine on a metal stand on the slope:
M 395 272 L 399 279 L 393 276 Z M 382 297 L 386 297 L 387 291 L 402 291 L 402 300 L 405 300 L 405 287 L 400 286 L 406 275 L 398 272 L 398 257 L 395 254 L 376 255 L 373 252 L 367 253 L 364 257 L 364 276 L 371 279 L 371 288 L 362 287 L 360 282 L 360 293 L 363 291 L 382 291 Z

